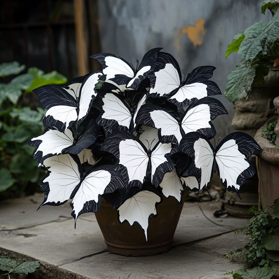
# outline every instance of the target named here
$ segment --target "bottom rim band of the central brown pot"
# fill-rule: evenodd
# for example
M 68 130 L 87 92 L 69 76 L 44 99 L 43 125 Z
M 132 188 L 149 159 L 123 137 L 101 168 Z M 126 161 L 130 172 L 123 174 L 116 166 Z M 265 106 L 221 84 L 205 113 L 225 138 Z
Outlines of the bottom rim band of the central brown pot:
M 172 248 L 173 238 L 167 242 L 160 243 L 160 245 L 117 245 L 105 240 L 107 249 L 112 254 L 119 254 L 123 256 L 151 256 L 165 253 Z

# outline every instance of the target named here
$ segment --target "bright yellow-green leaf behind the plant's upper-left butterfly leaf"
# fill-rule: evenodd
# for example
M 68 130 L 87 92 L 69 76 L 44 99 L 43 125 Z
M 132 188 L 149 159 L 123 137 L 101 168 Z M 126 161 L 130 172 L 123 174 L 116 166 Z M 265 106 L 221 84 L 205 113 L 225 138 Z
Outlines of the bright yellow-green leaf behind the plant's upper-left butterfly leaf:
M 56 71 L 45 74 L 42 70 L 32 67 L 28 69 L 28 74 L 33 75 L 34 79 L 26 92 L 31 92 L 33 89 L 46 84 L 64 84 L 67 82 L 67 78 Z

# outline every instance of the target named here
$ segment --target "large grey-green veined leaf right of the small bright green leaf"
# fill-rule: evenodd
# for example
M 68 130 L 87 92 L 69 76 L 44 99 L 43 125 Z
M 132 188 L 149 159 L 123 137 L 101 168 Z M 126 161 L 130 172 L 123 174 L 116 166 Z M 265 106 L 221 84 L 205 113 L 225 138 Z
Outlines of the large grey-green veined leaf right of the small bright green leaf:
M 253 60 L 261 52 L 261 34 L 268 21 L 258 21 L 244 31 L 245 38 L 242 41 L 238 54 L 245 60 Z

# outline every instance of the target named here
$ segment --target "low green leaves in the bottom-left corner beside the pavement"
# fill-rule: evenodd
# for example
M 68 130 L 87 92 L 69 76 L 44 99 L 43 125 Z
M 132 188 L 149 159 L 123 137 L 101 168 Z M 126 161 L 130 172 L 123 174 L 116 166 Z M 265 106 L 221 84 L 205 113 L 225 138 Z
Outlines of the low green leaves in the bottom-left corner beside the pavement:
M 0 258 L 0 270 L 8 271 L 0 275 L 0 278 L 10 278 L 10 274 L 14 273 L 33 273 L 40 266 L 38 261 L 26 261 L 19 263 L 16 260 L 11 260 L 7 258 Z

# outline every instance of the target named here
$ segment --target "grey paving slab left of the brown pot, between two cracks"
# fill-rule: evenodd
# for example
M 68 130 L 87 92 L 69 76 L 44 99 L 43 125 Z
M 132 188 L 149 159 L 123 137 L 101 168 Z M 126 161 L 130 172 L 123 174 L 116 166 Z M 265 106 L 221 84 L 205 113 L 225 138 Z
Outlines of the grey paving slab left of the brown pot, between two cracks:
M 97 222 L 66 219 L 27 229 L 0 232 L 2 248 L 53 265 L 71 263 L 107 246 Z

